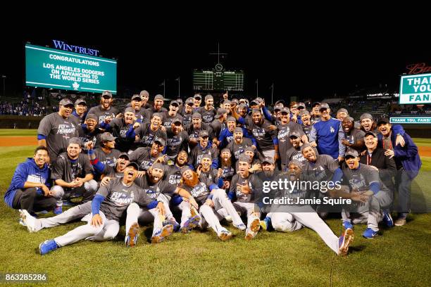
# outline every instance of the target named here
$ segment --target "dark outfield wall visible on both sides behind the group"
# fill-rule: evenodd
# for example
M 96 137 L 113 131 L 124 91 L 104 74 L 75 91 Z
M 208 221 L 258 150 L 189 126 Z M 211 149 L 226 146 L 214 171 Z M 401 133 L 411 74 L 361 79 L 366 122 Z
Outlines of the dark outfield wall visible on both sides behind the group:
M 0 129 L 37 129 L 43 117 L 0 115 Z M 411 137 L 431 139 L 431 125 L 402 125 Z

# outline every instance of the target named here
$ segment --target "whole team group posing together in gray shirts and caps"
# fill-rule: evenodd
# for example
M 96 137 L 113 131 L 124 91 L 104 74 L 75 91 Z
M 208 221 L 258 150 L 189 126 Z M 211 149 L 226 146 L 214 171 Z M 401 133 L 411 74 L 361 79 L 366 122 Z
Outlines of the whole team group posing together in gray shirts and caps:
M 5 201 L 20 210 L 20 223 L 30 232 L 82 218 L 86 225 L 39 245 L 42 255 L 82 239 L 106 241 L 125 222 L 125 243 L 135 246 L 139 224 L 153 222 L 152 243 L 173 231 L 188 233 L 211 227 L 225 241 L 232 233 L 220 220 L 245 231 L 246 240 L 258 230 L 315 230 L 339 255 L 354 238 L 355 223 L 373 238 L 378 223 L 392 227 L 389 212 L 396 181 L 399 218 L 406 223 L 410 184 L 420 169 L 418 148 L 401 126 L 368 114 L 354 122 L 347 110 L 332 118 L 327 103 L 277 102 L 273 113 L 263 99 L 251 103 L 223 96 L 214 108 L 213 96 L 171 101 L 163 96 L 153 106 L 149 94 L 132 96 L 119 113 L 112 94 L 87 113 L 85 100 L 60 102 L 38 129 L 39 147 L 33 158 L 18 165 Z M 75 108 L 75 111 L 73 111 Z M 378 131 L 377 131 L 378 129 Z M 380 132 L 380 133 L 378 133 Z M 344 231 L 338 238 L 325 224 L 321 206 L 263 205 L 265 181 L 332 181 L 342 188 L 325 189 L 332 198 L 349 198 L 343 208 Z M 323 196 L 323 190 L 277 190 L 273 198 Z M 63 212 L 63 203 L 81 196 L 79 205 Z M 299 200 L 297 200 L 299 201 Z M 56 216 L 37 219 L 33 212 L 54 210 Z M 180 223 L 173 216 L 180 214 Z M 244 224 L 242 217 L 246 217 Z

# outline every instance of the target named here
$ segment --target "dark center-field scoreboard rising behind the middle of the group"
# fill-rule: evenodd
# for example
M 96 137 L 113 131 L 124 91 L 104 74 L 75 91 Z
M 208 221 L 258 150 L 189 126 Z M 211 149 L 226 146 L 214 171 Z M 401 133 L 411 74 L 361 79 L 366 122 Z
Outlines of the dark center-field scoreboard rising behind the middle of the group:
M 195 91 L 244 91 L 242 70 L 194 70 L 193 89 Z

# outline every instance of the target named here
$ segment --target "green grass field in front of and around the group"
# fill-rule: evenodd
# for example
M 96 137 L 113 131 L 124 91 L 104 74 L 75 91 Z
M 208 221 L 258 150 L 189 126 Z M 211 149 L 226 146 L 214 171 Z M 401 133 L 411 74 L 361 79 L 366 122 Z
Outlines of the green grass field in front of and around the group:
M 35 130 L 0 130 L 0 136 L 35 134 Z M 431 144 L 431 140 L 416 142 Z M 16 165 L 32 156 L 34 148 L 0 148 L 1 196 Z M 423 173 L 415 184 L 429 203 L 431 158 L 423 161 Z M 83 223 L 30 234 L 18 224 L 18 211 L 6 207 L 4 200 L 0 217 L 0 273 L 46 272 L 48 284 L 43 286 L 429 286 L 431 281 L 431 214 L 410 215 L 404 227 L 382 228 L 381 236 L 373 240 L 362 238 L 366 226 L 356 226 L 347 257 L 337 257 L 311 229 L 288 234 L 263 231 L 248 242 L 244 232 L 232 226 L 227 228 L 235 238 L 228 242 L 221 242 L 212 231 L 193 231 L 151 245 L 144 239 L 151 227 L 144 227 L 137 247 L 126 248 L 122 228 L 114 241 L 82 241 L 41 256 L 39 243 Z M 339 219 L 326 222 L 340 234 Z

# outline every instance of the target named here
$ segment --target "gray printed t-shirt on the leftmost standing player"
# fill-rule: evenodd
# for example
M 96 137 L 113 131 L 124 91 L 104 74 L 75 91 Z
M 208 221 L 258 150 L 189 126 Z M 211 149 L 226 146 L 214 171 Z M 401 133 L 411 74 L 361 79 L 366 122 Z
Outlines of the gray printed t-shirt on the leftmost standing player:
M 75 117 L 63 118 L 58 113 L 46 115 L 39 123 L 37 134 L 46 136 L 51 162 L 54 162 L 60 153 L 68 148 L 68 140 L 79 136 L 79 125 Z

